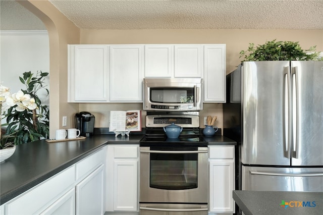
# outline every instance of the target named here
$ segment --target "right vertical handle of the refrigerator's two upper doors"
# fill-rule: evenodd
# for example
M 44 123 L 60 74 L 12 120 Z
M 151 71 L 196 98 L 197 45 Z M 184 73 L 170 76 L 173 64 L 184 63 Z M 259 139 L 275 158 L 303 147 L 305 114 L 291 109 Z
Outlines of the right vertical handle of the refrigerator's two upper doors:
M 291 76 L 291 81 L 292 81 L 292 119 L 294 119 L 293 121 L 293 131 L 295 133 L 295 135 L 293 135 L 293 150 L 292 150 L 292 157 L 294 158 L 298 158 L 298 146 L 299 146 L 299 105 L 298 105 L 298 96 L 299 96 L 299 92 L 298 92 L 298 84 L 297 84 L 297 67 L 293 67 L 291 70 L 292 76 Z M 296 120 L 295 120 L 296 119 Z

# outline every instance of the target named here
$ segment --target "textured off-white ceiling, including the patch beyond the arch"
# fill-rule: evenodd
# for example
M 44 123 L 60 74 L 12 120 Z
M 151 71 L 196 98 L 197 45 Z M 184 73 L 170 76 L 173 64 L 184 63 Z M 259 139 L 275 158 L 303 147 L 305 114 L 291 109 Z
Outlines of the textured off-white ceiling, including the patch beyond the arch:
M 323 29 L 323 1 L 49 0 L 82 29 Z M 15 1 L 1 0 L 1 30 L 45 29 Z

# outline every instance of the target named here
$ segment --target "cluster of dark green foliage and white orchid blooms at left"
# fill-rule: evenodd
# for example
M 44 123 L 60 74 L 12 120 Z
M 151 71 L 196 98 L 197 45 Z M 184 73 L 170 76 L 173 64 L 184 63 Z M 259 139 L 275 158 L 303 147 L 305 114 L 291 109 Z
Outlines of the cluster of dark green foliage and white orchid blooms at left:
M 8 87 L 0 85 L 1 114 L 6 118 L 6 132 L 1 136 L 1 148 L 10 145 L 27 143 L 49 135 L 49 108 L 42 105 L 37 91 L 44 89 L 48 96 L 49 91 L 44 85 L 48 73 L 25 72 L 19 77 L 26 86 L 17 93 L 11 94 Z M 0 124 L 1 126 L 1 124 Z

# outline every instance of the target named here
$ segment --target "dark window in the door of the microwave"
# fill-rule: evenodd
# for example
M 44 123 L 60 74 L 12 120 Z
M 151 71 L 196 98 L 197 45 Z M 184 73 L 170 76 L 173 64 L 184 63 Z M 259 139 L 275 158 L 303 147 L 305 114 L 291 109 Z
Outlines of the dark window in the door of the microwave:
M 194 88 L 150 88 L 150 101 L 157 103 L 193 103 Z

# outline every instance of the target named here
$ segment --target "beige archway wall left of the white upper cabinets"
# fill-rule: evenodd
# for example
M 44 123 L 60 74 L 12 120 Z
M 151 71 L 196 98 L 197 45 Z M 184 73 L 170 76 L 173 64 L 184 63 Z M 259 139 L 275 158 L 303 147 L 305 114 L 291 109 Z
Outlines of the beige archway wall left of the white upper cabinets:
M 35 14 L 46 26 L 49 37 L 49 138 L 62 128 L 62 117 L 68 116 L 68 127 L 73 127 L 72 116 L 78 104 L 67 103 L 67 44 L 79 43 L 80 29 L 48 1 L 17 1 Z

